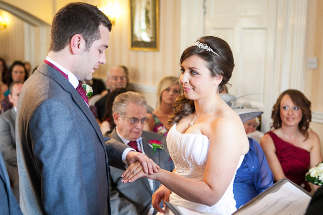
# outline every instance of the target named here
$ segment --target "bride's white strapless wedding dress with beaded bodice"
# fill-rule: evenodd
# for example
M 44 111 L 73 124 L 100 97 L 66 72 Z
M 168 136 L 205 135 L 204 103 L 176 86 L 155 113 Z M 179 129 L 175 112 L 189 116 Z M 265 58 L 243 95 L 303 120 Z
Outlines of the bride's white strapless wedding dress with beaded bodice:
M 175 173 L 185 178 L 202 181 L 209 151 L 209 139 L 205 135 L 181 134 L 176 131 L 176 125 L 177 124 L 174 124 L 170 128 L 166 137 L 167 148 L 175 165 Z M 243 158 L 244 155 L 240 157 L 237 169 L 239 169 Z M 214 206 L 209 207 L 206 205 L 189 202 L 173 192 L 169 196 L 169 202 L 171 204 L 183 206 L 185 208 L 203 213 L 231 215 L 237 211 L 236 200 L 234 199 L 233 194 L 233 182 L 237 169 L 228 189 L 219 202 L 217 202 L 217 204 Z M 168 210 L 166 210 L 166 214 L 171 214 L 167 211 Z M 158 213 L 157 215 L 162 214 Z

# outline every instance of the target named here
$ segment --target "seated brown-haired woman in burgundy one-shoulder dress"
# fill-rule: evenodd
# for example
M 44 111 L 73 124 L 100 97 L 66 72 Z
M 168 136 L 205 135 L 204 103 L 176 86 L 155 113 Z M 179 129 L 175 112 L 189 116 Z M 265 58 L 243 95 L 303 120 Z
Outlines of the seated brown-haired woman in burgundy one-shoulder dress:
M 309 167 L 322 162 L 319 136 L 308 130 L 311 102 L 298 90 L 286 90 L 273 106 L 271 118 L 272 131 L 264 135 L 260 145 L 275 181 L 286 177 L 311 192 L 305 175 Z

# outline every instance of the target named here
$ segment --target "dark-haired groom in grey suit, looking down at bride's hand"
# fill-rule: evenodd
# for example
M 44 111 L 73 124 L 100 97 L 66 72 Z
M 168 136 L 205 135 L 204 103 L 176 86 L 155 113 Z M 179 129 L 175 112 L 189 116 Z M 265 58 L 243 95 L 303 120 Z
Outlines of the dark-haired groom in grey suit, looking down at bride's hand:
M 108 165 L 124 169 L 140 161 L 146 172 L 158 172 L 146 155 L 103 138 L 80 85 L 106 63 L 109 31 L 109 19 L 86 3 L 70 3 L 53 19 L 48 56 L 17 105 L 24 215 L 110 215 Z

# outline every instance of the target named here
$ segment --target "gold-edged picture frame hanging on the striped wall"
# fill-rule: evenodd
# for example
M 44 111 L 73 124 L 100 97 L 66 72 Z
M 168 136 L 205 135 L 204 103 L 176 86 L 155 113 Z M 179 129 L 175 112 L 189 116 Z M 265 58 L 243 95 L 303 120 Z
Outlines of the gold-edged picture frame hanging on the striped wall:
M 159 51 L 159 0 L 129 0 L 130 50 Z

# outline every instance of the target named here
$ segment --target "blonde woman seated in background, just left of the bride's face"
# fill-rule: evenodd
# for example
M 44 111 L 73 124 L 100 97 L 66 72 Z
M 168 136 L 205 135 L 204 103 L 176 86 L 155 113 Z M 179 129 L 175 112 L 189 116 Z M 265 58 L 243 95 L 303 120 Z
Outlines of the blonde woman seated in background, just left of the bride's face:
M 147 114 L 149 121 L 144 127 L 145 131 L 167 135 L 167 116 L 171 114 L 173 103 L 181 92 L 177 77 L 166 76 L 160 80 L 157 87 L 157 109 Z

